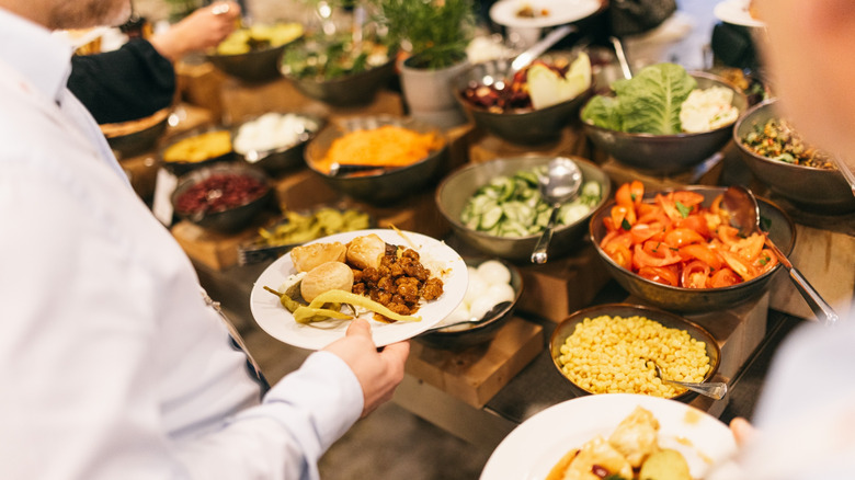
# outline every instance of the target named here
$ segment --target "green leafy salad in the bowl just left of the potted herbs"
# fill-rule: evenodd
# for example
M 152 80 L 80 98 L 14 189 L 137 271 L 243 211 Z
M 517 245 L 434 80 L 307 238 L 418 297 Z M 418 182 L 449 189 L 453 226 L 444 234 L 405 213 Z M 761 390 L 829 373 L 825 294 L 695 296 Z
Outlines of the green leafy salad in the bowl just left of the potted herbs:
M 354 42 L 350 33 L 318 35 L 290 48 L 282 57 L 282 72 L 289 77 L 333 80 L 388 64 L 387 45 L 371 38 Z

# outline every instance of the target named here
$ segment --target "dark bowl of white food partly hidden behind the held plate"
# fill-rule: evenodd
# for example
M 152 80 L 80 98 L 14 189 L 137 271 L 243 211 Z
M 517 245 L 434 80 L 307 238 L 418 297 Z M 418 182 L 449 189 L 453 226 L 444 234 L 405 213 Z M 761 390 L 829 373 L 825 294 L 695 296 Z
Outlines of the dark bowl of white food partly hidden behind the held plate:
M 523 276 L 513 264 L 498 259 L 464 260 L 469 283 L 463 301 L 436 328 L 419 336 L 432 346 L 458 350 L 489 342 L 513 316 L 523 293 Z

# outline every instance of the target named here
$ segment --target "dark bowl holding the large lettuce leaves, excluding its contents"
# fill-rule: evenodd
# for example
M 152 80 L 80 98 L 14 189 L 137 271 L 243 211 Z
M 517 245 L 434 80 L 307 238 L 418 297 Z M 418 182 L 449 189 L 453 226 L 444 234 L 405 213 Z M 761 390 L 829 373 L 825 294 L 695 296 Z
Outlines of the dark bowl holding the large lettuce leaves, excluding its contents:
M 732 104 L 740 114 L 748 108 L 745 94 L 719 77 L 704 72 L 693 72 L 692 77 L 700 89 L 719 85 L 732 90 Z M 582 127 L 600 150 L 622 163 L 659 174 L 685 171 L 700 164 L 727 145 L 733 128 L 727 125 L 697 134 L 651 135 L 611 130 L 584 121 Z

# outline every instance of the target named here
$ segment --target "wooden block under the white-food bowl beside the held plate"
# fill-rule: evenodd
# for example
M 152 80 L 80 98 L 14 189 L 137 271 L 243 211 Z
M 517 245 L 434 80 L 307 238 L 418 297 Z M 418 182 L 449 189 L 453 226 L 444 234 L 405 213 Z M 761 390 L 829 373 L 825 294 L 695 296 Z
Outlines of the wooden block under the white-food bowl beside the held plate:
M 460 351 L 411 343 L 407 373 L 481 408 L 544 348 L 543 327 L 509 319 L 492 341 Z

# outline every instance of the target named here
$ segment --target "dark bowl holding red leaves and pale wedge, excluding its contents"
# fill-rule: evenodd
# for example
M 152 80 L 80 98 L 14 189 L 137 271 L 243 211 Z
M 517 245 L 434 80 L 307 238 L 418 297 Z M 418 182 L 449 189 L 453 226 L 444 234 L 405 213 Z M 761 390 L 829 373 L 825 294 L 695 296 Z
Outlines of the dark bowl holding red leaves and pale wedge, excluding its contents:
M 572 61 L 578 54 L 555 53 L 545 55 L 545 60 L 563 58 Z M 579 108 L 591 96 L 593 89 L 573 99 L 540 110 L 514 110 L 502 113 L 490 112 L 467 101 L 463 91 L 472 84 L 492 83 L 503 79 L 511 67 L 512 58 L 500 58 L 475 64 L 452 80 L 454 96 L 475 124 L 488 133 L 521 145 L 542 145 L 558 141 L 561 132 L 570 125 Z

